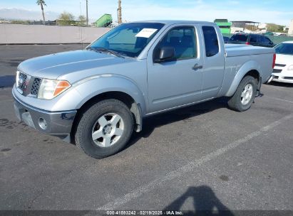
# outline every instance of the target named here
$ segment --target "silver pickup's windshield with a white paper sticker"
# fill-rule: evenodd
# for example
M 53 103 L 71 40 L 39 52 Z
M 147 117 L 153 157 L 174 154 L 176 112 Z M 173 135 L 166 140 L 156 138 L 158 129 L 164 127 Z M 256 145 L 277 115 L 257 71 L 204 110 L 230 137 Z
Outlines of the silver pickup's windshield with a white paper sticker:
M 88 48 L 136 58 L 163 26 L 163 23 L 125 23 L 108 31 Z

